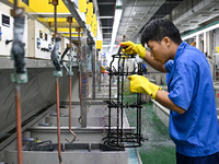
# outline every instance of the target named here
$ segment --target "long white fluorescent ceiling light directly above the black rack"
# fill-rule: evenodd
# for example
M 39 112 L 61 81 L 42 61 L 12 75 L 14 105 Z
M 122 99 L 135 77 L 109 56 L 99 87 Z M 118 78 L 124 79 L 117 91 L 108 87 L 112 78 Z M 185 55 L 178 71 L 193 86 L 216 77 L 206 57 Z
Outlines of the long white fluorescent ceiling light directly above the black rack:
M 122 9 L 116 9 L 115 10 L 110 52 L 113 51 L 113 46 L 114 46 L 114 43 L 116 40 L 116 35 L 117 35 L 117 32 L 118 32 L 118 25 L 120 23 L 122 14 L 123 14 L 123 10 Z

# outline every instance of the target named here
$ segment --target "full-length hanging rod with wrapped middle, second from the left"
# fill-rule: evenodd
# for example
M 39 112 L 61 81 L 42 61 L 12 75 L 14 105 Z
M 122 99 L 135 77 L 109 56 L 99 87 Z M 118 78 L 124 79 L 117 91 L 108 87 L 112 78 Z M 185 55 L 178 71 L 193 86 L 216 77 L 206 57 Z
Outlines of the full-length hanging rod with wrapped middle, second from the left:
M 51 51 L 51 60 L 55 66 L 55 71 L 54 75 L 56 77 L 56 107 L 57 107 L 57 138 L 58 138 L 58 159 L 59 159 L 59 164 L 61 164 L 61 142 L 60 142 L 60 112 L 59 112 L 59 82 L 58 78 L 62 77 L 62 70 L 60 66 L 60 56 L 59 56 L 59 47 L 61 44 L 61 37 L 57 33 L 57 5 L 58 5 L 58 0 L 53 0 L 49 1 L 54 5 L 54 20 L 55 20 L 55 34 L 54 38 L 56 40 L 54 49 Z

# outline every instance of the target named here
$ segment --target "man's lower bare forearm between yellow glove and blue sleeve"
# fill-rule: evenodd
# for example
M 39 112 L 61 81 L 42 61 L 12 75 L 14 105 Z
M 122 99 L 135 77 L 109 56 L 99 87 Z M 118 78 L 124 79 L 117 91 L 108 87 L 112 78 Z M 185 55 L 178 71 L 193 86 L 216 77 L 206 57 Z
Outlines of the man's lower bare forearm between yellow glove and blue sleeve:
M 164 107 L 174 110 L 178 114 L 184 114 L 185 109 L 181 108 L 180 106 L 175 105 L 170 98 L 169 93 L 162 90 L 159 90 L 155 95 L 155 101 L 163 105 Z

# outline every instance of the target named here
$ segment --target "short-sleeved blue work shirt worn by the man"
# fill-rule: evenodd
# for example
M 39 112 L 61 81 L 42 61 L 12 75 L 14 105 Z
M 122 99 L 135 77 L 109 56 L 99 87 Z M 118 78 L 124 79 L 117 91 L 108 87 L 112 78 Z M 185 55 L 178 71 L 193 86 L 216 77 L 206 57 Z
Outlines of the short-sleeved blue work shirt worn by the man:
M 169 133 L 176 152 L 186 156 L 207 156 L 219 152 L 219 126 L 209 63 L 197 48 L 183 42 L 170 73 L 169 98 L 184 108 L 170 113 Z

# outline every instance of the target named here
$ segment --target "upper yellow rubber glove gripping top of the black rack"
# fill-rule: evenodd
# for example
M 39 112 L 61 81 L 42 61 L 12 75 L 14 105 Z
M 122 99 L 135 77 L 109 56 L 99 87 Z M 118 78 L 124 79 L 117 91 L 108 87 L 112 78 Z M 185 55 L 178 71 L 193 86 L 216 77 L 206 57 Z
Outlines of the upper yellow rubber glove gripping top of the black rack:
M 138 54 L 140 58 L 145 58 L 146 56 L 146 48 L 141 44 L 134 44 L 132 42 L 120 43 L 120 45 L 126 46 L 127 48 L 123 48 L 122 52 L 136 55 Z

